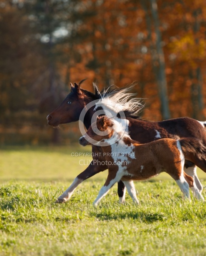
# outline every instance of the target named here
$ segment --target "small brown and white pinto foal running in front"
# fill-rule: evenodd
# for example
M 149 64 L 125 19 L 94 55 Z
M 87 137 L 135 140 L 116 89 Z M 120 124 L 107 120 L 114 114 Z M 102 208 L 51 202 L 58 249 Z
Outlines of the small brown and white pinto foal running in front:
M 101 135 L 98 135 L 98 130 L 102 132 Z M 92 140 L 96 141 L 96 145 L 104 144 L 102 151 L 109 171 L 107 180 L 93 203 L 95 206 L 119 180 L 124 182 L 129 195 L 138 204 L 132 180 L 145 180 L 161 172 L 168 173 L 176 181 L 186 198 L 190 198 L 190 187 L 196 198 L 204 200 L 193 178 L 183 171 L 185 159 L 194 160 L 193 155 L 201 158 L 206 154 L 206 148 L 198 140 L 161 139 L 139 144 L 122 131 L 120 122 L 107 116 L 97 117 L 97 122 L 80 137 L 79 143 L 83 146 L 90 145 Z

